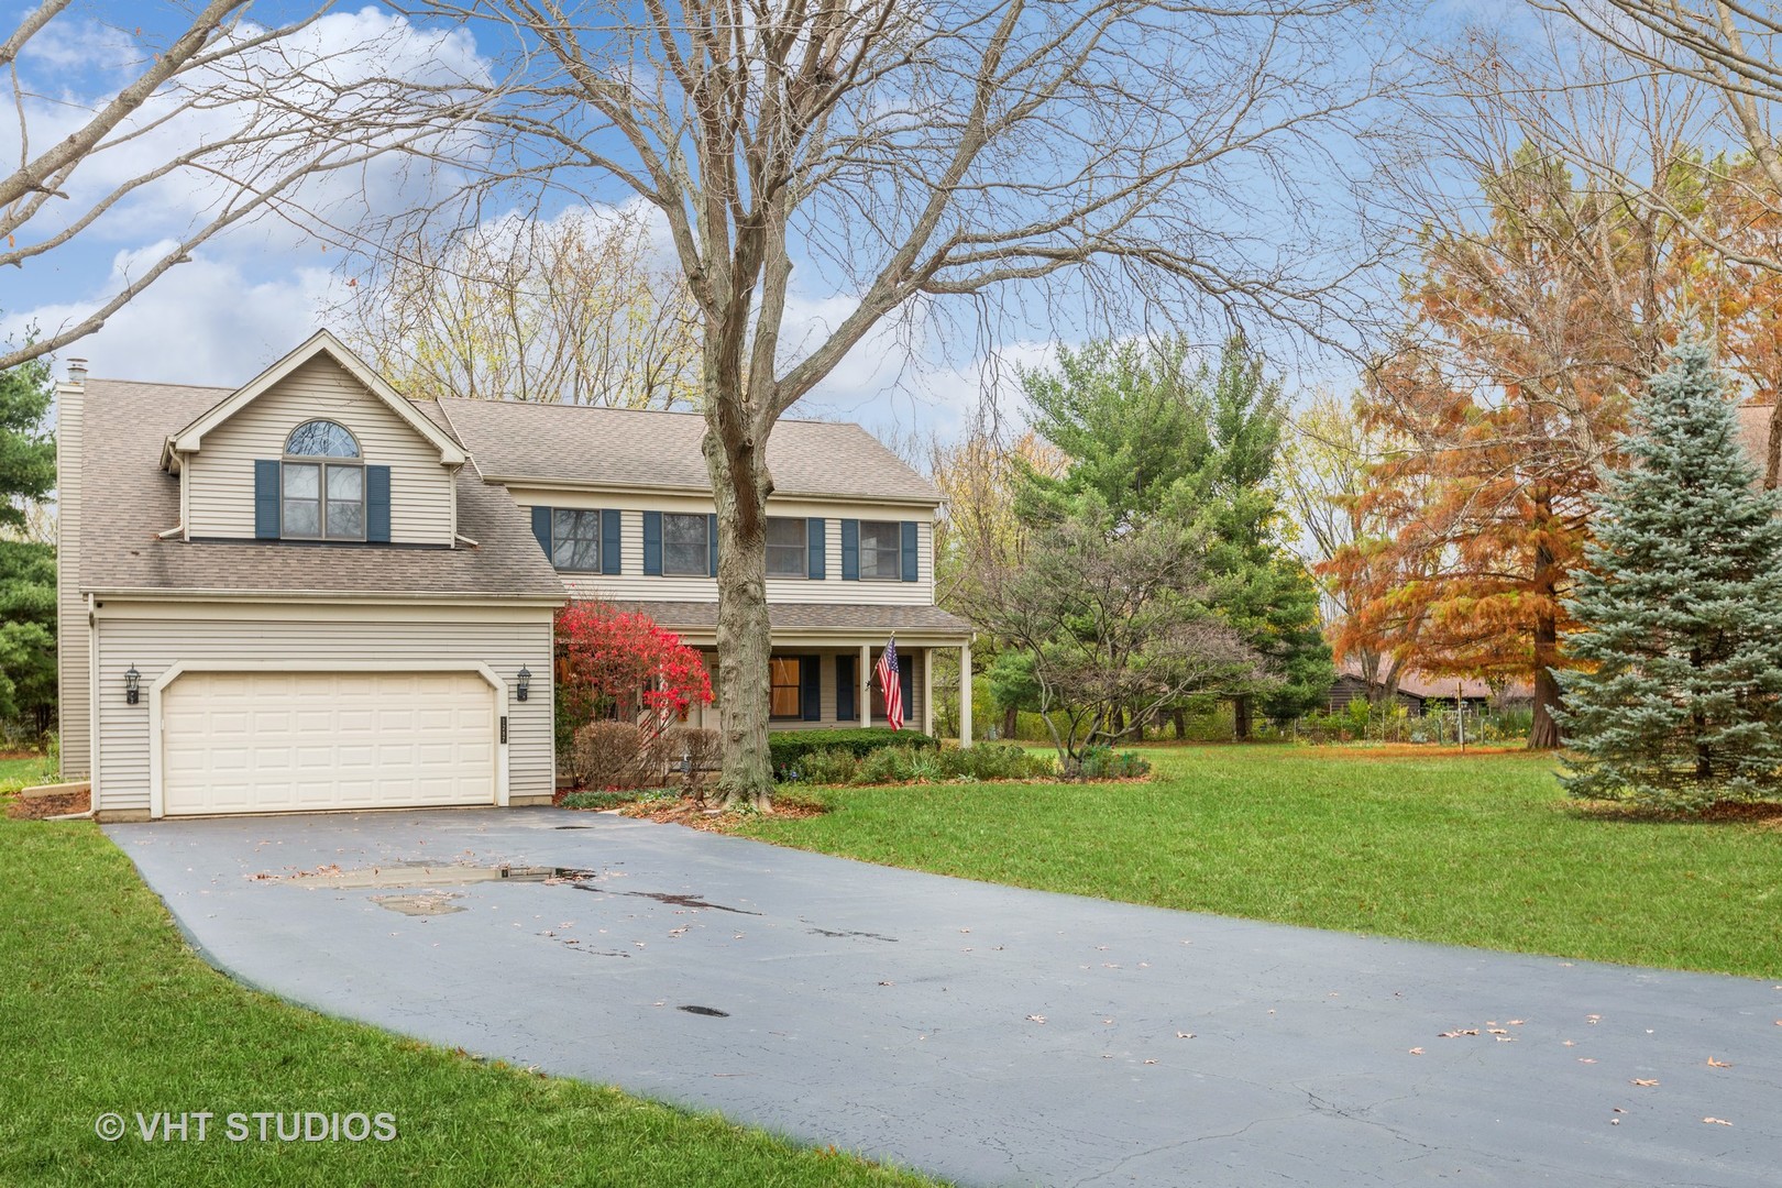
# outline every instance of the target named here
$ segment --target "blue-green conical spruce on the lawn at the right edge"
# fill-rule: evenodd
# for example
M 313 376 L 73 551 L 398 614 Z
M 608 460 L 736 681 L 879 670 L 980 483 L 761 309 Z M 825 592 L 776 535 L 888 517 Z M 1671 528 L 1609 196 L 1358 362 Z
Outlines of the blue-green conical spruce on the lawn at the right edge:
M 1565 673 L 1561 778 L 1686 812 L 1782 796 L 1782 499 L 1757 488 L 1705 346 L 1672 351 L 1636 426 L 1570 600 L 1586 668 Z

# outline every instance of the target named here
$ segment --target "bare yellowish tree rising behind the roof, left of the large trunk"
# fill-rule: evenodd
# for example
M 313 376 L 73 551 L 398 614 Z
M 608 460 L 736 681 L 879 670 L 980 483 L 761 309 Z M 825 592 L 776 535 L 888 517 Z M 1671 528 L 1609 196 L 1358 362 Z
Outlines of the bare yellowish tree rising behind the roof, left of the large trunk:
M 351 292 L 347 337 L 412 397 L 699 403 L 691 297 L 638 212 L 417 228 Z

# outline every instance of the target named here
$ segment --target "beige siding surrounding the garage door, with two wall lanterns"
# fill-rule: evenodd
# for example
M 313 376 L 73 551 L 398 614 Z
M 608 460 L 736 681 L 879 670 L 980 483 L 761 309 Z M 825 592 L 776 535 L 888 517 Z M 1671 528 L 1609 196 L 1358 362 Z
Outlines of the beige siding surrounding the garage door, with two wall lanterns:
M 385 607 L 358 614 L 340 607 L 127 604 L 109 598 L 98 618 L 100 780 L 110 812 L 150 807 L 148 688 L 176 663 L 239 663 L 244 670 L 273 661 L 326 668 L 376 661 L 383 671 L 405 663 L 488 664 L 508 684 L 508 794 L 552 791 L 551 611 L 478 607 Z M 127 705 L 123 671 L 143 673 L 143 700 Z M 515 675 L 533 671 L 531 698 L 511 695 Z

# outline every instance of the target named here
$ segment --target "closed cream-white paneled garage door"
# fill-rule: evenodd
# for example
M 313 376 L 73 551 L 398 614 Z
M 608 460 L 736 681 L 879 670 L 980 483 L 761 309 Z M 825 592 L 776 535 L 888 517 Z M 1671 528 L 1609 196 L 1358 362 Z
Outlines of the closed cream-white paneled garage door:
M 168 816 L 495 803 L 478 673 L 185 673 L 160 696 Z

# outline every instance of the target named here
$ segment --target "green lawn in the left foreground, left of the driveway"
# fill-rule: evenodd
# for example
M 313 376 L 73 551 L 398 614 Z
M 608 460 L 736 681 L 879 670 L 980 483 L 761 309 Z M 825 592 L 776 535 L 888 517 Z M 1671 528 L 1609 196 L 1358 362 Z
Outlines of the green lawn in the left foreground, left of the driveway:
M 255 994 L 91 825 L 0 821 L 0 1184 L 918 1184 Z M 524 1006 L 517 1006 L 524 1010 Z M 597 1013 L 599 1001 L 588 1003 Z M 135 1111 L 390 1111 L 390 1142 L 143 1142 Z M 94 1119 L 119 1111 L 114 1143 Z

